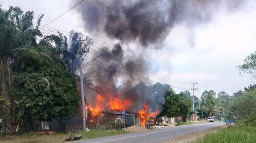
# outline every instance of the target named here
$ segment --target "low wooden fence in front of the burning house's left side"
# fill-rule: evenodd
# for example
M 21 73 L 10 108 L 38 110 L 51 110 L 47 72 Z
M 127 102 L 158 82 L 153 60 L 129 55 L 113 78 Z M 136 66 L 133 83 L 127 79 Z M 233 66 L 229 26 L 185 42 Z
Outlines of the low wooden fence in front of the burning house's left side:
M 114 125 L 86 125 L 89 131 L 96 130 L 115 130 Z M 80 132 L 83 131 L 83 125 L 66 126 L 66 132 Z

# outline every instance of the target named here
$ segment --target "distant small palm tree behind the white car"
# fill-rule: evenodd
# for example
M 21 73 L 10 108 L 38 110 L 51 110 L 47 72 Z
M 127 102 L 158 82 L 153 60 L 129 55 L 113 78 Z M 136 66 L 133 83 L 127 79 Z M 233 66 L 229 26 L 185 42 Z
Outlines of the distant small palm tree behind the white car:
M 219 113 L 222 110 L 217 99 L 212 95 L 206 95 L 203 99 L 203 109 L 208 111 L 210 116 L 212 116 L 212 114 Z

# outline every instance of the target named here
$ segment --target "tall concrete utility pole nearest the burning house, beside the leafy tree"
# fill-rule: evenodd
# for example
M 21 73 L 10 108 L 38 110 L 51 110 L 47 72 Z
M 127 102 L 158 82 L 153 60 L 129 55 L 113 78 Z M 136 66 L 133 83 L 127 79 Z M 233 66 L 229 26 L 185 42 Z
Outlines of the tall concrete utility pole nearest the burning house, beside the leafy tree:
M 83 80 L 83 59 L 82 59 L 82 55 L 84 53 L 87 53 L 89 52 L 89 48 L 86 48 L 86 50 L 84 48 L 81 48 L 81 41 L 85 41 L 85 40 L 81 40 L 81 37 L 79 37 L 79 40 L 78 40 L 78 44 L 79 44 L 79 51 L 76 53 L 76 55 L 79 55 L 79 62 L 80 62 L 80 91 L 81 91 L 81 102 L 82 102 L 82 117 L 83 117 L 83 131 L 85 132 L 86 131 L 86 128 L 85 128 L 85 111 L 84 111 L 84 80 Z

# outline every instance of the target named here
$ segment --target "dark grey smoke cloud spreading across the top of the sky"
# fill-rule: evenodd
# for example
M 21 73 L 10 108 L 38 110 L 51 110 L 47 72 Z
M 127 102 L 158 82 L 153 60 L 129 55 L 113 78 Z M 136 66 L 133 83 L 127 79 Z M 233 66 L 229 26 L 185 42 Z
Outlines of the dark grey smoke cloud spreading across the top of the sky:
M 162 42 L 175 25 L 194 27 L 207 23 L 221 9 L 234 12 L 245 1 L 87 0 L 77 11 L 86 30 L 104 32 L 123 42 L 138 39 L 143 47 L 148 47 Z

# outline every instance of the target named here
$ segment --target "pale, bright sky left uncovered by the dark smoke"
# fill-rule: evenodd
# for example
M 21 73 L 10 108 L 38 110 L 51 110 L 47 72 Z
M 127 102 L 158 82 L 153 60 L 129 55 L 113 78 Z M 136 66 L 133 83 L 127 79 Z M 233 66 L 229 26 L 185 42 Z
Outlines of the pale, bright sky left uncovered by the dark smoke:
M 19 6 L 24 11 L 34 11 L 35 16 L 45 14 L 41 24 L 45 25 L 74 4 L 69 0 L 5 0 L 1 5 L 4 9 L 10 5 Z M 203 91 L 211 89 L 216 93 L 226 91 L 232 95 L 249 86 L 251 80 L 246 75 L 239 75 L 236 67 L 243 63 L 247 55 L 255 51 L 255 5 L 256 2 L 250 1 L 240 11 L 218 11 L 210 22 L 196 25 L 193 29 L 187 25 L 174 25 L 167 38 L 160 44 L 161 50 L 145 51 L 151 65 L 150 71 L 172 81 L 198 82 L 195 85 L 195 88 L 198 88 L 195 91 L 197 97 L 200 97 Z M 116 41 L 106 38 L 104 34 L 88 33 L 89 30 L 85 29 L 80 17 L 81 15 L 72 9 L 47 27 L 79 31 L 92 35 L 95 41 L 104 46 L 113 46 Z M 56 30 L 44 29 L 44 34 L 56 34 Z M 186 89 L 191 91 L 191 84 L 172 81 L 169 84 L 176 93 Z

